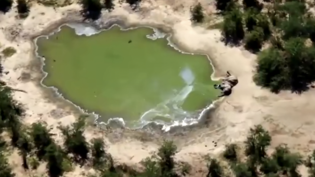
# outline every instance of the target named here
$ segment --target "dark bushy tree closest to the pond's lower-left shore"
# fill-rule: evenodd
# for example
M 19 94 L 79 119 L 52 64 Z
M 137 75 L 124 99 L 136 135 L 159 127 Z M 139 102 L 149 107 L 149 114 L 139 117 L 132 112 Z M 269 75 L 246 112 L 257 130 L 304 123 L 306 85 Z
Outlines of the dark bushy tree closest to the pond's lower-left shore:
M 62 134 L 65 137 L 64 146 L 68 153 L 72 153 L 75 161 L 81 164 L 88 159 L 89 146 L 83 136 L 85 128 L 85 118 L 79 117 L 71 127 L 60 127 Z

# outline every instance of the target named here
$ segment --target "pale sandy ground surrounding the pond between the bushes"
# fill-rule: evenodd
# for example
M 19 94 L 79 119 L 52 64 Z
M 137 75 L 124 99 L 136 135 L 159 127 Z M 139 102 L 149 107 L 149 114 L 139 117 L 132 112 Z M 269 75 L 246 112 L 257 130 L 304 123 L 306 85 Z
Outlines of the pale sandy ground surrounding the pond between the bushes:
M 206 168 L 203 156 L 217 156 L 230 142 L 241 142 L 250 127 L 262 124 L 272 134 L 272 147 L 286 143 L 293 151 L 308 154 L 315 145 L 315 91 L 309 90 L 301 95 L 290 92 L 271 94 L 252 82 L 255 55 L 240 48 L 225 46 L 220 42 L 220 31 L 206 30 L 193 26 L 189 9 L 195 0 L 185 3 L 175 0 L 144 0 L 139 12 L 133 12 L 128 5 L 119 5 L 112 13 L 103 12 L 101 20 L 117 16 L 129 24 L 150 24 L 167 26 L 173 31 L 173 40 L 191 52 L 204 52 L 212 58 L 216 76 L 227 70 L 239 78 L 233 94 L 221 100 L 218 108 L 209 118 L 209 125 L 193 128 L 182 133 L 169 133 L 164 138 L 173 139 L 178 146 L 176 158 L 193 164 L 195 176 L 204 176 Z M 213 2 L 201 1 L 207 14 L 213 16 Z M 56 126 L 74 122 L 77 112 L 69 103 L 60 100 L 52 91 L 40 86 L 43 77 L 39 60 L 34 58 L 32 37 L 51 28 L 57 22 L 78 19 L 79 5 L 72 4 L 61 8 L 33 4 L 30 15 L 25 20 L 16 18 L 16 9 L 0 14 L 0 50 L 14 47 L 17 53 L 2 60 L 4 71 L 9 71 L 3 80 L 9 86 L 23 89 L 27 93 L 15 92 L 14 97 L 26 108 L 24 122 L 31 124 L 39 120 L 47 122 L 57 133 L 56 140 L 61 142 Z M 163 137 L 148 135 L 140 131 L 117 129 L 101 131 L 97 128 L 86 130 L 88 139 L 103 137 L 107 150 L 119 163 L 137 164 L 141 159 L 156 151 Z M 214 143 L 218 146 L 214 147 Z M 11 164 L 21 164 L 20 157 L 14 152 L 9 158 Z M 44 173 L 44 164 L 36 172 L 24 172 L 15 165 L 17 176 Z M 76 167 L 66 176 L 86 176 L 90 171 Z M 92 173 L 92 172 L 91 172 Z M 304 168 L 301 173 L 306 176 Z

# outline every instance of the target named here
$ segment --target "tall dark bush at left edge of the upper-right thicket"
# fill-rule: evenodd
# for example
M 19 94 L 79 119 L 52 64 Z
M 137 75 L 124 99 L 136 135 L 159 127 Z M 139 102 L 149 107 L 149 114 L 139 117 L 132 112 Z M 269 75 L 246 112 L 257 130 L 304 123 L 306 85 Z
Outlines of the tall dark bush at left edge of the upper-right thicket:
M 226 43 L 238 44 L 244 37 L 242 13 L 238 8 L 224 15 L 222 36 Z

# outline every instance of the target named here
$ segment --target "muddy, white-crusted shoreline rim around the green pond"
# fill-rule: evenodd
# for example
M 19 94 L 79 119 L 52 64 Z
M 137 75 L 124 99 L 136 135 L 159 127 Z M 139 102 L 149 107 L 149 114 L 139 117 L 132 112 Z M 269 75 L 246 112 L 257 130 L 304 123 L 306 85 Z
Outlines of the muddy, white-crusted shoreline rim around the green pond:
M 128 127 L 124 127 L 124 122 L 122 118 L 111 118 L 107 121 L 107 123 L 104 122 L 98 122 L 98 117 L 99 115 L 97 115 L 95 112 L 89 113 L 88 110 L 83 110 L 80 106 L 74 104 L 73 102 L 71 102 L 70 100 L 67 100 L 66 98 L 64 98 L 62 96 L 62 94 L 60 92 L 58 92 L 58 89 L 55 87 L 47 87 L 43 84 L 43 80 L 45 79 L 45 77 L 47 77 L 48 73 L 43 71 L 43 66 L 45 66 L 45 58 L 42 56 L 39 56 L 37 53 L 38 50 L 38 46 L 37 46 L 37 39 L 39 37 L 49 37 L 57 32 L 59 32 L 61 30 L 62 26 L 69 26 L 72 29 L 76 30 L 74 28 L 74 25 L 79 24 L 85 27 L 92 27 L 95 29 L 95 32 L 93 34 L 90 35 L 94 35 L 103 31 L 107 31 L 110 30 L 113 26 L 119 26 L 120 30 L 123 31 L 127 31 L 127 30 L 134 30 L 137 28 L 150 28 L 154 31 L 154 35 L 157 34 L 158 32 L 164 33 L 166 37 L 166 40 L 168 41 L 169 46 L 171 46 L 173 49 L 177 50 L 180 53 L 183 54 L 201 54 L 201 55 L 206 55 L 209 63 L 212 67 L 212 74 L 211 74 L 211 79 L 212 80 L 218 80 L 219 78 L 215 78 L 215 68 L 212 64 L 212 61 L 209 57 L 208 54 L 205 53 L 191 53 L 191 52 L 186 52 L 185 50 L 182 50 L 184 48 L 181 48 L 180 45 L 177 45 L 175 42 L 173 42 L 172 40 L 174 40 L 174 37 L 172 35 L 172 31 L 169 30 L 169 28 L 167 28 L 167 26 L 157 26 L 157 27 L 152 27 L 152 26 L 148 26 L 148 25 L 137 25 L 137 24 L 128 24 L 126 23 L 126 21 L 118 18 L 118 17 L 113 17 L 113 18 L 109 18 L 107 20 L 97 20 L 96 22 L 82 22 L 80 20 L 71 20 L 71 21 L 64 21 L 64 20 L 60 20 L 59 22 L 56 22 L 56 24 L 50 25 L 47 29 L 48 30 L 44 30 L 41 34 L 33 37 L 32 40 L 32 45 L 34 48 L 34 55 L 36 59 L 39 59 L 41 61 L 41 66 L 40 66 L 40 72 L 41 75 L 43 76 L 40 80 L 40 85 L 45 89 L 45 90 L 50 90 L 50 92 L 54 92 L 53 94 L 56 95 L 59 99 L 59 101 L 61 102 L 65 102 L 68 104 L 71 104 L 72 106 L 74 106 L 74 109 L 77 109 L 77 113 L 79 114 L 87 114 L 89 115 L 89 117 L 94 117 L 94 123 L 96 124 L 102 124 L 102 125 L 114 125 L 114 127 L 118 127 L 118 128 L 127 128 Z M 76 31 L 76 35 L 85 35 L 83 34 L 77 34 Z M 154 36 L 153 35 L 153 36 Z M 155 39 L 152 39 L 155 40 Z M 175 40 L 174 40 L 175 41 Z M 199 112 L 199 116 L 198 117 L 194 117 L 194 122 L 190 123 L 190 124 L 186 124 L 184 122 L 181 123 L 173 123 L 172 125 L 164 125 L 162 123 L 157 123 L 157 122 L 151 122 L 151 123 L 147 123 L 146 125 L 142 126 L 141 128 L 132 128 L 132 130 L 147 130 L 150 129 L 150 131 L 152 131 L 152 128 L 154 129 L 154 131 L 158 131 L 160 132 L 162 130 L 162 132 L 168 132 L 172 129 L 171 132 L 174 131 L 180 131 L 181 128 L 185 129 L 190 129 L 190 128 L 195 128 L 195 127 L 199 127 L 199 126 L 204 126 L 205 122 L 207 121 L 207 119 L 211 116 L 209 116 L 208 112 L 213 112 L 215 109 L 215 104 L 219 101 L 218 100 L 214 100 L 213 103 L 211 105 L 208 105 L 207 107 L 203 108 L 200 112 Z M 113 127 L 111 127 L 113 128 Z

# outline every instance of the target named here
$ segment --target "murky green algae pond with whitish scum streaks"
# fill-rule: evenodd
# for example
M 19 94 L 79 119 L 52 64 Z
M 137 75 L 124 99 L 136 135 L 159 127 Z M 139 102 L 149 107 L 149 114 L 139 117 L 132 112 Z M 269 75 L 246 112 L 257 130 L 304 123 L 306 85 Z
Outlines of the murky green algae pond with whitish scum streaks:
M 90 36 L 69 26 L 37 39 L 45 58 L 43 85 L 99 121 L 123 118 L 126 126 L 196 118 L 216 99 L 206 55 L 183 54 L 166 37 L 149 39 L 153 29 L 118 26 Z

